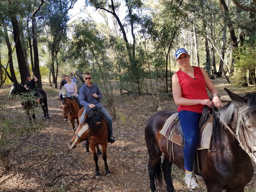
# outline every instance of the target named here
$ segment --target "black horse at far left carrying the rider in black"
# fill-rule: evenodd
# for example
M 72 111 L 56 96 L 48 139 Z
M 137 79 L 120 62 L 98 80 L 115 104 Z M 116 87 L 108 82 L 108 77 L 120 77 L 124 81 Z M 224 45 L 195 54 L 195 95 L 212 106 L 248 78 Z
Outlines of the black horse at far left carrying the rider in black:
M 41 97 L 40 97 L 40 104 L 42 106 L 42 109 L 44 111 L 44 117 L 49 119 L 49 114 L 48 114 L 48 105 L 47 105 L 47 96 L 46 96 L 46 92 L 42 89 L 37 89 L 38 92 L 41 94 Z M 24 94 L 28 92 L 28 90 L 26 90 L 26 88 L 24 86 L 22 86 L 21 84 L 18 84 L 18 83 L 12 83 L 12 87 L 11 87 L 11 90 L 10 90 L 10 93 L 8 95 L 8 98 L 11 98 L 12 95 L 16 95 L 16 94 Z M 38 104 L 36 102 L 30 102 L 30 101 L 27 101 L 27 102 L 22 102 L 21 105 L 26 109 L 26 112 L 30 118 L 30 110 L 32 108 L 34 108 L 35 106 L 37 106 Z M 32 118 L 35 119 L 36 116 L 32 110 Z

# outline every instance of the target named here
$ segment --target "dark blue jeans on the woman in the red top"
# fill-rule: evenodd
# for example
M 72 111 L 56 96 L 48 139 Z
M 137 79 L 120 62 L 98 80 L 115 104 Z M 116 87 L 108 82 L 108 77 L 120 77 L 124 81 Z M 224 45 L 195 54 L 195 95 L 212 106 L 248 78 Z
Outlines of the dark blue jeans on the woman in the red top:
M 187 171 L 193 171 L 198 144 L 198 124 L 201 114 L 182 110 L 179 112 L 180 124 L 184 134 L 184 164 Z

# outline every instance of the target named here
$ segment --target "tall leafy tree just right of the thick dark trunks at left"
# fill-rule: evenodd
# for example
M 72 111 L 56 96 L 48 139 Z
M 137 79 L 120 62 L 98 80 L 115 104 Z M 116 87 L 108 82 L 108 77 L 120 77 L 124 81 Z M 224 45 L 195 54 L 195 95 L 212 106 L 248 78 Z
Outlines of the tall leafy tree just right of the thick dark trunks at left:
M 57 55 L 62 46 L 67 42 L 68 21 L 70 17 L 68 10 L 72 9 L 77 0 L 59 0 L 48 2 L 46 8 L 46 33 L 48 36 L 48 51 L 50 53 L 50 74 L 52 81 L 57 88 L 57 77 L 60 65 L 57 62 Z M 49 75 L 50 77 L 50 75 Z M 51 82 L 50 82 L 51 83 Z

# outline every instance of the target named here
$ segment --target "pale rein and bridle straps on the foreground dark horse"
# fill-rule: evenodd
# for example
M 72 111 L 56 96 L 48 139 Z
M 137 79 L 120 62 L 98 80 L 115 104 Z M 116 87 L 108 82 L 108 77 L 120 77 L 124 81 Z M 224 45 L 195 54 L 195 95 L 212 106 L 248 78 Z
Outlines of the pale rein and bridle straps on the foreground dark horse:
M 218 116 L 218 118 L 220 119 L 220 121 L 226 126 L 226 128 L 228 128 L 228 130 L 230 131 L 230 133 L 236 138 L 236 140 L 238 140 L 240 147 L 242 148 L 242 150 L 244 150 L 250 157 L 252 157 L 253 161 L 256 163 L 256 156 L 254 156 L 253 152 L 254 150 L 256 150 L 256 146 L 252 147 L 252 151 L 250 151 L 248 148 L 246 148 L 244 146 L 244 144 L 241 141 L 241 138 L 239 136 L 239 131 L 240 131 L 240 127 L 241 127 L 241 123 L 242 123 L 242 128 L 244 129 L 244 131 L 246 131 L 246 134 L 248 135 L 246 126 L 244 124 L 244 120 L 242 117 L 242 114 L 244 112 L 246 112 L 249 109 L 249 107 L 243 108 L 242 110 L 239 110 L 239 114 L 238 114 L 238 120 L 237 120 L 237 126 L 236 126 L 236 134 L 234 133 L 234 130 L 232 130 L 225 122 L 224 120 L 220 117 L 220 115 L 214 110 L 214 112 L 216 113 L 216 115 Z

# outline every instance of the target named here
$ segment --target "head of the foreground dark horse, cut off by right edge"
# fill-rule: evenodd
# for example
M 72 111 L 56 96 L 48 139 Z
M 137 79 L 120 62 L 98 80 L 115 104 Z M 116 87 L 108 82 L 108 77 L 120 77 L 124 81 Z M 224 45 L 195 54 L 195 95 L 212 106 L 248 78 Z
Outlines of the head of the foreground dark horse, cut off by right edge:
M 226 89 L 238 109 L 236 136 L 240 145 L 256 156 L 256 93 L 241 97 Z M 245 149 L 245 150 L 246 150 Z M 256 160 L 256 159 L 255 159 Z

